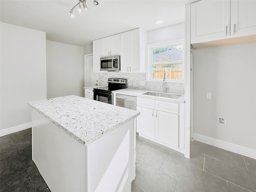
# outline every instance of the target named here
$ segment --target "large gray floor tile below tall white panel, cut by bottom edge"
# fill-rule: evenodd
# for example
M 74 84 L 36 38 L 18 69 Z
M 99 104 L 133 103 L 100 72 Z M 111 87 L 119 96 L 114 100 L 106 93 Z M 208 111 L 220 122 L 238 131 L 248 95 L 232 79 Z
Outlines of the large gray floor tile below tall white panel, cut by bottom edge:
M 227 182 L 225 180 L 208 174 L 182 161 L 178 161 L 171 156 L 166 157 L 160 171 L 197 192 L 228 191 Z

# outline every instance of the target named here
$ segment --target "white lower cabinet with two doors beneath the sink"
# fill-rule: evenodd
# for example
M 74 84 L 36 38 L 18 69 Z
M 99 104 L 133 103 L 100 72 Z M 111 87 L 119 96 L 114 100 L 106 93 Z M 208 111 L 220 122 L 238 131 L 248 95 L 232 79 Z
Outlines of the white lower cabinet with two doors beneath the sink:
M 178 108 L 178 103 L 137 97 L 137 111 L 140 112 L 137 118 L 137 132 L 148 139 L 159 141 L 160 144 L 178 148 Z

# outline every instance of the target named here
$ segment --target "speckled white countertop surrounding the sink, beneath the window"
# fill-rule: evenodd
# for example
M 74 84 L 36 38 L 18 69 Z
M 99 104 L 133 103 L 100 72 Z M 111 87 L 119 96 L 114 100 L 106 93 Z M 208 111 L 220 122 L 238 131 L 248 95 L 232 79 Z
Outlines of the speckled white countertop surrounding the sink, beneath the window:
M 173 102 L 173 103 L 185 103 L 184 94 L 177 94 L 177 93 L 167 93 L 167 94 L 174 94 L 174 95 L 181 95 L 178 99 L 172 99 L 172 98 L 165 98 L 165 97 L 158 97 L 158 96 L 151 96 L 151 95 L 143 95 L 143 93 L 146 92 L 156 92 L 156 93 L 162 93 L 159 91 L 152 91 L 152 90 L 142 90 L 142 89 L 120 89 L 116 91 L 112 91 L 113 93 L 122 94 L 122 95 L 130 95 L 130 96 L 136 96 L 136 97 L 142 97 L 147 99 L 154 99 L 154 100 L 160 100 L 160 101 L 167 101 L 167 102 Z

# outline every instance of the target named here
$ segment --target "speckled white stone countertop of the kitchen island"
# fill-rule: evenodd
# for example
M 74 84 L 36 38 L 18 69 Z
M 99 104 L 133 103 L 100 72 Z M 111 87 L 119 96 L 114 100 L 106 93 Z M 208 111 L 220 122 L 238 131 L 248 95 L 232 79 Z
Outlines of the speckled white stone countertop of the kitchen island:
M 28 105 L 84 146 L 140 115 L 75 95 L 31 101 Z

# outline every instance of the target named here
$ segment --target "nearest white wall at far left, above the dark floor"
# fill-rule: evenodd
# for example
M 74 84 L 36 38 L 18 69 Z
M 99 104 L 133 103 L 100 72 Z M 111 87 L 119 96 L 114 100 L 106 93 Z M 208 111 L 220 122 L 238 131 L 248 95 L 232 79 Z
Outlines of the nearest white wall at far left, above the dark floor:
M 30 123 L 27 102 L 46 98 L 46 34 L 3 22 L 0 31 L 0 130 L 4 130 Z

